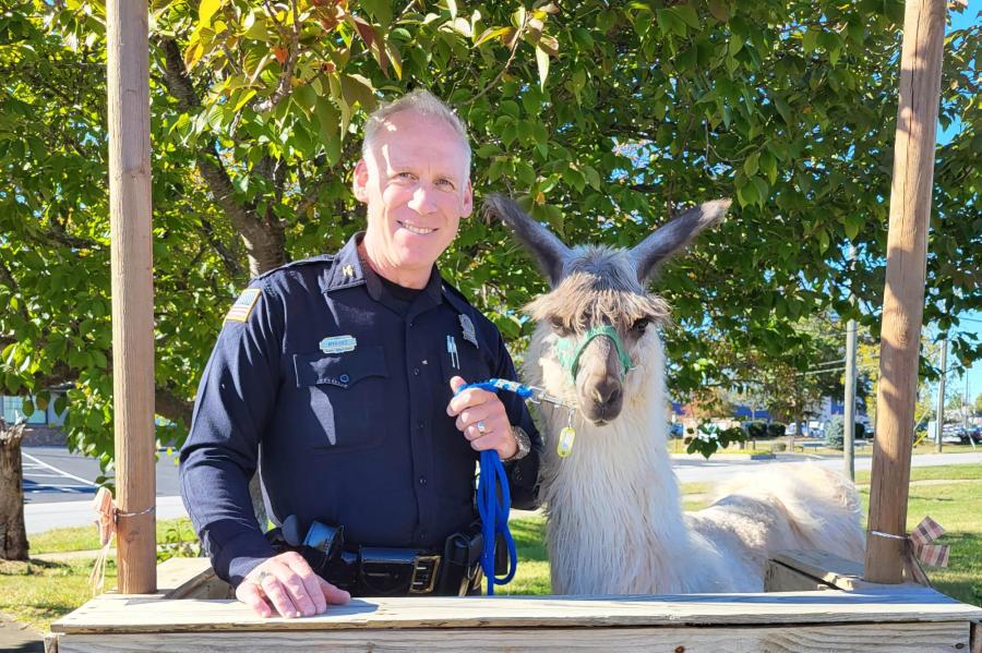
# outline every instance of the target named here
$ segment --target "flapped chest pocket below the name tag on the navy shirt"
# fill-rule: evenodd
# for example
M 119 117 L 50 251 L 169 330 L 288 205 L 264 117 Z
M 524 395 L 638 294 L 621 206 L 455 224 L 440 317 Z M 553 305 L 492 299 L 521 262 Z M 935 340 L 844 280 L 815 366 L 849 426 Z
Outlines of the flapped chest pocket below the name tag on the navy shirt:
M 356 451 L 382 444 L 379 404 L 388 368 L 382 347 L 360 346 L 339 355 L 294 354 L 297 389 L 307 394 L 299 425 L 315 448 Z

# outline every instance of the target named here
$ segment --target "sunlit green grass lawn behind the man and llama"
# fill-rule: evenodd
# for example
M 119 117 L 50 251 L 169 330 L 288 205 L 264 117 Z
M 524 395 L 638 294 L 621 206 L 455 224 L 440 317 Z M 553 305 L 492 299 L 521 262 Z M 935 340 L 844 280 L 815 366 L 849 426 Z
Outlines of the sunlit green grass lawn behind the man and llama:
M 943 542 L 951 545 L 948 569 L 929 569 L 935 587 L 950 596 L 982 606 L 982 464 L 913 468 L 912 481 L 953 481 L 930 483 L 910 488 L 908 530 L 924 515 L 931 515 L 948 533 Z M 869 499 L 870 473 L 859 472 L 864 512 Z M 686 510 L 705 507 L 700 496 L 710 489 L 707 483 L 686 483 L 682 486 Z M 513 520 L 512 534 L 518 548 L 518 571 L 515 579 L 500 594 L 549 594 L 549 560 L 546 555 L 546 521 L 542 517 Z M 193 539 L 185 519 L 157 523 L 157 542 L 171 545 Z M 57 529 L 31 537 L 31 554 L 84 551 L 98 547 L 95 528 Z M 89 598 L 87 559 L 38 560 L 29 563 L 0 561 L 0 612 L 38 630 L 48 630 L 51 621 L 71 612 Z M 107 587 L 116 583 L 116 566 L 107 566 Z

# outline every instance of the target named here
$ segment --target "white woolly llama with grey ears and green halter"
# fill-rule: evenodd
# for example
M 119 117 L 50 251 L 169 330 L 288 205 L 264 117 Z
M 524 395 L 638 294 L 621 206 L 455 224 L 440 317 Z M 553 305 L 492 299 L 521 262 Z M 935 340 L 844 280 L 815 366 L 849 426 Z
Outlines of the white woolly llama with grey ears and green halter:
M 540 480 L 554 593 L 761 592 L 765 563 L 779 551 L 862 558 L 855 489 L 817 465 L 756 472 L 710 507 L 682 511 L 657 332 L 669 310 L 645 287 L 660 263 L 721 220 L 729 205 L 697 206 L 619 250 L 567 247 L 511 199 L 487 202 L 487 213 L 511 228 L 551 285 L 526 307 L 538 327 L 525 379 L 577 406 L 573 415 L 542 409 Z M 567 421 L 575 446 L 560 457 L 556 437 Z

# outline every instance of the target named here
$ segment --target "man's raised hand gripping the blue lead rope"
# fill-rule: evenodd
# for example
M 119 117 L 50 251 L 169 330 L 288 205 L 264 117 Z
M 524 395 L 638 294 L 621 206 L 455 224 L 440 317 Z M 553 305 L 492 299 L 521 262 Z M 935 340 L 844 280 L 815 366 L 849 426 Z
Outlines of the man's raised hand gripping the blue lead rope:
M 455 376 L 451 379 L 451 389 L 456 392 L 465 384 L 463 378 Z M 504 403 L 494 392 L 478 388 L 464 390 L 451 399 L 446 414 L 457 418 L 457 428 L 476 451 L 494 449 L 502 460 L 518 452 Z

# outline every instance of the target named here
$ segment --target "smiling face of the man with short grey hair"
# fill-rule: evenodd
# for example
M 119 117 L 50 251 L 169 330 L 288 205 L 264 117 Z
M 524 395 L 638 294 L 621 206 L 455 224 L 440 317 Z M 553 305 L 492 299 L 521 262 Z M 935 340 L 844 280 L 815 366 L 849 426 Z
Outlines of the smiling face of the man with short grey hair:
M 415 111 L 386 120 L 355 168 L 373 263 L 429 278 L 474 207 L 468 172 L 464 144 L 444 120 Z

